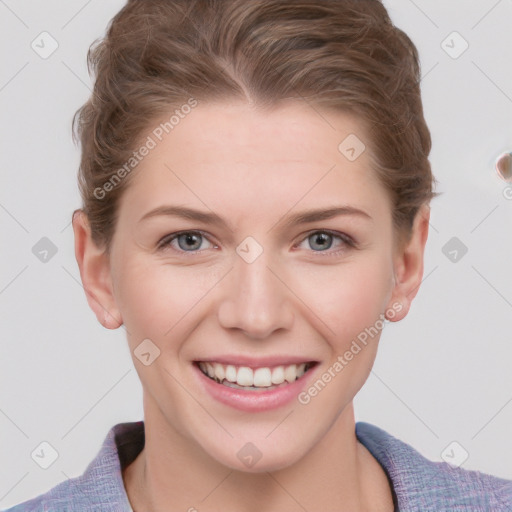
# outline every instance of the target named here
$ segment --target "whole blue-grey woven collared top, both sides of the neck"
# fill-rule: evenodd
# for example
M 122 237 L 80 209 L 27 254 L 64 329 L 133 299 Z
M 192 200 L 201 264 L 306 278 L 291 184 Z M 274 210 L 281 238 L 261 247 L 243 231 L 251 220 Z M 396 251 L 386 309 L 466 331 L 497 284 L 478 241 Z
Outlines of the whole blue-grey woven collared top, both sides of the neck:
M 369 423 L 356 423 L 356 436 L 384 468 L 400 512 L 512 512 L 510 480 L 432 462 Z M 119 423 L 81 476 L 4 512 L 133 512 L 121 470 L 143 447 L 144 423 Z

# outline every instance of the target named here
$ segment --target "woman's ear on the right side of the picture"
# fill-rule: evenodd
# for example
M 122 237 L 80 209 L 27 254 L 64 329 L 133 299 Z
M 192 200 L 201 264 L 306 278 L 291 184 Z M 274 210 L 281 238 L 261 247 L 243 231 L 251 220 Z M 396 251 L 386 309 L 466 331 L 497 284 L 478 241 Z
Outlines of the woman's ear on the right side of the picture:
M 394 311 L 389 320 L 405 318 L 411 302 L 418 293 L 423 278 L 425 244 L 428 238 L 430 206 L 423 205 L 414 218 L 410 239 L 402 244 L 394 256 L 394 288 L 388 308 Z

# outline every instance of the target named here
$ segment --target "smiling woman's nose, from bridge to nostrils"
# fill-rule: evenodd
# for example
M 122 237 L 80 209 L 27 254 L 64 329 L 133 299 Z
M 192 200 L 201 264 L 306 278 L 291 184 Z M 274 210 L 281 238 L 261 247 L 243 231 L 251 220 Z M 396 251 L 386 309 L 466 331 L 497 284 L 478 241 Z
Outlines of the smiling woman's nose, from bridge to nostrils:
M 294 314 L 290 290 L 268 266 L 266 252 L 247 263 L 235 258 L 235 267 L 223 283 L 218 319 L 226 329 L 238 329 L 253 339 L 290 329 Z

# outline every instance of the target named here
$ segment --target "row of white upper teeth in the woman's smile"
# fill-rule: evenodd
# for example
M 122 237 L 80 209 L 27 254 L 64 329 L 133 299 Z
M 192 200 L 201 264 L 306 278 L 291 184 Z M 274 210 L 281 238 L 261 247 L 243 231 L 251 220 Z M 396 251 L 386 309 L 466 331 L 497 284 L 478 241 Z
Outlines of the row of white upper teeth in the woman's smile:
M 284 381 L 294 382 L 306 372 L 306 363 L 290 364 L 288 366 L 276 366 L 274 368 L 249 368 L 248 366 L 236 367 L 231 364 L 199 363 L 202 372 L 222 382 L 226 379 L 239 386 L 270 387 L 282 384 Z

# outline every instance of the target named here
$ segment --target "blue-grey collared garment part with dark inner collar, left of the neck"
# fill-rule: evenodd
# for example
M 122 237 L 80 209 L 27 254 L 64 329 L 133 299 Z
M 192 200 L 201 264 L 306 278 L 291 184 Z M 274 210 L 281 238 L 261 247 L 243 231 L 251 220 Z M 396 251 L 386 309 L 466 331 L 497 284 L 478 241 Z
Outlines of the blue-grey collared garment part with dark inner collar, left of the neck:
M 142 440 L 143 422 L 115 425 L 81 476 L 4 512 L 131 512 L 121 468 L 137 455 Z

